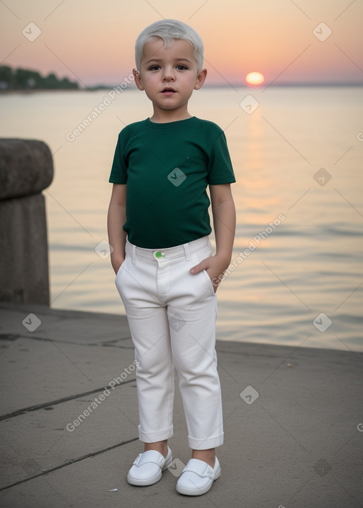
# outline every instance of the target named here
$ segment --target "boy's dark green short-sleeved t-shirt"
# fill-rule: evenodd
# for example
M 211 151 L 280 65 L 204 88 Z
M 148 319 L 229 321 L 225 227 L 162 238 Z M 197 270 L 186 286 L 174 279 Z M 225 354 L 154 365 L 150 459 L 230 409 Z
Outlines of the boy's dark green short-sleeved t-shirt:
M 223 130 L 195 116 L 170 123 L 149 118 L 118 135 L 112 184 L 127 184 L 128 240 L 159 249 L 211 232 L 209 185 L 235 181 Z

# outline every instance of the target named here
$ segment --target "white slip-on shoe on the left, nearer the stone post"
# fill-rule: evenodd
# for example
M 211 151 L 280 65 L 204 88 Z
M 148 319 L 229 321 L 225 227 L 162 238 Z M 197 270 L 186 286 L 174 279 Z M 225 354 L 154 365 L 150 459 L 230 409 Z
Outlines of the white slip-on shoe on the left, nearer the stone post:
M 166 458 L 156 450 L 139 453 L 128 472 L 128 482 L 131 485 L 152 485 L 162 478 L 162 471 L 167 469 L 172 461 L 169 446 Z

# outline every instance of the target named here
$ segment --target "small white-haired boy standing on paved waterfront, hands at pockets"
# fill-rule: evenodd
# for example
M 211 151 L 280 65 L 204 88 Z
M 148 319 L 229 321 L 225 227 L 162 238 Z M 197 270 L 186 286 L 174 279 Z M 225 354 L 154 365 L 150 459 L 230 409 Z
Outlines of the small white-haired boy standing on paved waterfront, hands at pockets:
M 223 444 L 223 417 L 212 281 L 230 264 L 235 178 L 223 131 L 188 112 L 189 98 L 207 74 L 200 36 L 180 21 L 157 21 L 138 36 L 135 60 L 135 83 L 152 101 L 153 115 L 118 136 L 108 209 L 111 263 L 138 361 L 138 432 L 145 444 L 128 482 L 152 485 L 172 463 L 167 439 L 173 434 L 175 366 L 192 448 L 177 491 L 201 495 L 220 476 L 215 448 Z

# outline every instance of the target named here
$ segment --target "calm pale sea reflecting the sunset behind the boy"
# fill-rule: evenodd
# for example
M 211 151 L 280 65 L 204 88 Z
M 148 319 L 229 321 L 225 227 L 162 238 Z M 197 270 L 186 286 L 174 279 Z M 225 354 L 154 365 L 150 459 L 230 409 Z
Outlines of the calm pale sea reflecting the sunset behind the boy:
M 0 95 L 1 137 L 43 140 L 51 307 L 125 314 L 106 246 L 118 132 L 152 115 L 133 86 Z M 217 338 L 363 351 L 363 88 L 206 87 L 224 130 L 237 228 Z M 212 245 L 215 245 L 213 233 Z

